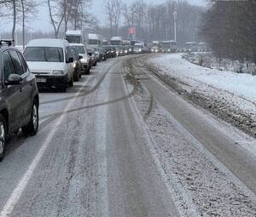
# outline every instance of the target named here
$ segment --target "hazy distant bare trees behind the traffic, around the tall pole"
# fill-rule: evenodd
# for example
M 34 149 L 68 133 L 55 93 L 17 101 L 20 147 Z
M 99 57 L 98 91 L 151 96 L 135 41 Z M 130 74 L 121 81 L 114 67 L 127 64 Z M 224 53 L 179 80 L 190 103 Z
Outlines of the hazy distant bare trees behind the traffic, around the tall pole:
M 204 8 L 191 5 L 187 1 L 167 0 L 166 3 L 148 4 L 137 0 L 131 4 L 121 0 L 108 0 L 105 5 L 108 27 L 102 32 L 108 37 L 128 35 L 129 27 L 135 27 L 137 38 L 144 40 L 174 39 L 174 11 L 177 11 L 178 43 L 198 39 L 198 27 Z

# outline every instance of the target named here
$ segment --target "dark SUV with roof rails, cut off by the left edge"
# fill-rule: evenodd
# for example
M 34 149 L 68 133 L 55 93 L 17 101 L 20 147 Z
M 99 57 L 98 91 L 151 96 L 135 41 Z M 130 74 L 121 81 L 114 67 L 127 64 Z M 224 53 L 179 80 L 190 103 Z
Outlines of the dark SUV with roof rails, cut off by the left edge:
M 26 60 L 11 41 L 0 40 L 0 162 L 6 140 L 20 128 L 23 134 L 38 133 L 38 87 Z

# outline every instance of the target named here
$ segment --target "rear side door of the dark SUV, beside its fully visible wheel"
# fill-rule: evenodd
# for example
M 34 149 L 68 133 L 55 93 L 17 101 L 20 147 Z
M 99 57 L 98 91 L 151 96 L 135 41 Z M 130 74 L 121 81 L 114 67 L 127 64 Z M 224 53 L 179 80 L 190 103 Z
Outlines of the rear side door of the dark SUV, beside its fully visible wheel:
M 15 65 L 16 74 L 23 78 L 23 82 L 17 85 L 20 90 L 20 126 L 27 123 L 31 116 L 32 110 L 32 80 L 29 77 L 27 67 L 23 66 L 20 60 L 20 54 L 16 50 L 10 50 L 9 54 Z

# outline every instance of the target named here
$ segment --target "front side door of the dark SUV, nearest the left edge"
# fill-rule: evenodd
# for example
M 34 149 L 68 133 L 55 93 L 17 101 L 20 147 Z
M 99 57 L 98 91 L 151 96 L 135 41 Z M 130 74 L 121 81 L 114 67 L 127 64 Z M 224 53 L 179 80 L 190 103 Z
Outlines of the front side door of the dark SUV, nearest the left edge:
M 3 90 L 3 97 L 6 99 L 9 111 L 9 133 L 15 129 L 20 128 L 22 116 L 22 103 L 20 100 L 19 85 L 8 85 L 9 75 L 15 74 L 15 65 L 8 51 L 3 53 L 3 83 L 5 87 Z

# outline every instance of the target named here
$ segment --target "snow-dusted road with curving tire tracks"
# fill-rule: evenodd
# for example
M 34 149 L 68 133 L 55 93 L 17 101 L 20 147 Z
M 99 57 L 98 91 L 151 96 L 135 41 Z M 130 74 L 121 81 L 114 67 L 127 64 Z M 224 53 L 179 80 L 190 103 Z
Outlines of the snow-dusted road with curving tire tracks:
M 256 153 L 244 146 L 255 140 L 146 59 L 108 60 L 67 93 L 40 94 L 38 135 L 13 138 L 0 163 L 0 217 L 256 216 Z

